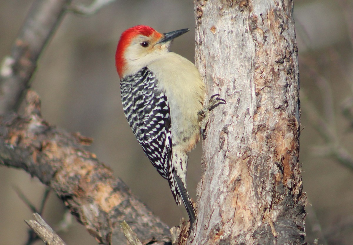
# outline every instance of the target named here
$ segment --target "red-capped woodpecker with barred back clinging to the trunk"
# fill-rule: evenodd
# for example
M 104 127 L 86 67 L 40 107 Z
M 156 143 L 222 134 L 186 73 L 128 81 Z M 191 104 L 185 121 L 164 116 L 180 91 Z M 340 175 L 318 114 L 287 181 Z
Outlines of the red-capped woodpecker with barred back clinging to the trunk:
M 134 26 L 121 34 L 115 61 L 127 121 L 152 165 L 168 180 L 177 204 L 184 203 L 192 226 L 196 215 L 186 190 L 186 168 L 200 138 L 205 85 L 192 62 L 168 50 L 187 31 L 161 34 Z

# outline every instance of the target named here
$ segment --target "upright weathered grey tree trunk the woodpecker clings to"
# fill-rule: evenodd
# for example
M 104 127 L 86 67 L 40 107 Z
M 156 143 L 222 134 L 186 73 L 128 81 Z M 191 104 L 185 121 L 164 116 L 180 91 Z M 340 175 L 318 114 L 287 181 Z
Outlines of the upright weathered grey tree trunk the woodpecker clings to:
M 302 244 L 293 2 L 200 0 L 195 14 L 196 65 L 227 104 L 210 114 L 189 244 Z

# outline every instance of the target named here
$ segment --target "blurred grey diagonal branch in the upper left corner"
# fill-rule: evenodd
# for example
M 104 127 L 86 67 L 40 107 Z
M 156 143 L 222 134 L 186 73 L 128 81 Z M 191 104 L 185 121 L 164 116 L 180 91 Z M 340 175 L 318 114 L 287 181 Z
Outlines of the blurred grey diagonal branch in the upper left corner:
M 0 114 L 17 109 L 44 46 L 54 34 L 71 0 L 36 0 L 5 57 L 0 73 Z

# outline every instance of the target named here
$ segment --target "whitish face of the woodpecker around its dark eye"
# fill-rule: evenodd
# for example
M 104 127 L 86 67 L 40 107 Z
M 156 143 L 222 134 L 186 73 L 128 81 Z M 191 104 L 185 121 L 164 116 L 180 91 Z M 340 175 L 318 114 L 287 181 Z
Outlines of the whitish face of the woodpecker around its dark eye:
M 160 38 L 160 35 L 152 34 L 149 37 L 139 35 L 131 40 L 124 53 L 126 67 L 128 67 L 125 75 L 138 72 L 169 52 L 170 41 L 157 43 Z

